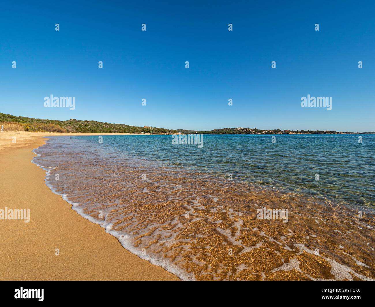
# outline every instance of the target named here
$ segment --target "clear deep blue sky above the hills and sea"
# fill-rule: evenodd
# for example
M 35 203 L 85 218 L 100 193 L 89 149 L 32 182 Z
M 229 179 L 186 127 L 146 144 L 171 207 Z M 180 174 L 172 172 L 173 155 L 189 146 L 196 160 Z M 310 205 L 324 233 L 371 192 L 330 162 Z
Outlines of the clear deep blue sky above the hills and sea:
M 374 131 L 374 13 L 374 1 L 2 1 L 0 112 Z M 75 110 L 45 108 L 51 94 L 74 96 Z M 308 94 L 331 96 L 332 110 L 302 108 Z

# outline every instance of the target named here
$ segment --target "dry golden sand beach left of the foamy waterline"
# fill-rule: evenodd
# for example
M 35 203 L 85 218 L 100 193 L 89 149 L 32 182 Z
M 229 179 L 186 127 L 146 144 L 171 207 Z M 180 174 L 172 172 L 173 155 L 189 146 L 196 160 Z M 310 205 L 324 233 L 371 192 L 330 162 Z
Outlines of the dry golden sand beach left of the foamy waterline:
M 0 134 L 0 209 L 30 209 L 28 223 L 0 220 L 0 280 L 178 280 L 125 250 L 51 192 L 45 171 L 30 161 L 43 136 L 52 135 L 91 133 Z

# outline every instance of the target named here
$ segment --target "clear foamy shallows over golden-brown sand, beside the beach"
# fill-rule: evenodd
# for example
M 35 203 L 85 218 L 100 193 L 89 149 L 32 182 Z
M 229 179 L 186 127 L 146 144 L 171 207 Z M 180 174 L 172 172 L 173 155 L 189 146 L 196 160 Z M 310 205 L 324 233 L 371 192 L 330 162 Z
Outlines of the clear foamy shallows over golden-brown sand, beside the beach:
M 48 142 L 34 162 L 74 210 L 183 280 L 375 280 L 372 210 L 100 150 Z M 263 207 L 288 222 L 257 219 Z

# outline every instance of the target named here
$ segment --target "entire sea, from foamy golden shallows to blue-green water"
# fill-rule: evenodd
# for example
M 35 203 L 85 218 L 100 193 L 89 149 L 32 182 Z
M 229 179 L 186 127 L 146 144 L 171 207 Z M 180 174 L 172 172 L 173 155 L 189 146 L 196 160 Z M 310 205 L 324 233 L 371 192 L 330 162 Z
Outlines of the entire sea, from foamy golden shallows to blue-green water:
M 372 280 L 375 135 L 362 137 L 57 136 L 33 162 L 74 210 L 181 279 Z M 287 222 L 258 219 L 264 207 Z

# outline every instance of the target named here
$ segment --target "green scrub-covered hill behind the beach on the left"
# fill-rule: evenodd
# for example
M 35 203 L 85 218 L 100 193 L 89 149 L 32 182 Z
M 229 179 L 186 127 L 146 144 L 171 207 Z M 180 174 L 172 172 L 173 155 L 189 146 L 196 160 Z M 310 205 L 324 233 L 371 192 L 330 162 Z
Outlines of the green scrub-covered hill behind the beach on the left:
M 40 118 L 30 118 L 23 116 L 13 116 L 0 113 L 0 122 L 18 123 L 23 126 L 24 131 L 49 131 L 49 132 L 89 132 L 89 133 L 153 133 L 170 134 L 176 133 L 176 130 L 156 128 L 156 127 L 137 127 L 124 124 L 102 123 L 95 120 L 47 120 Z

